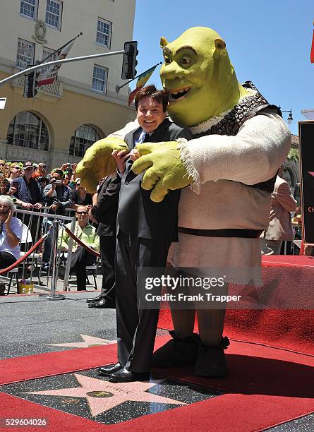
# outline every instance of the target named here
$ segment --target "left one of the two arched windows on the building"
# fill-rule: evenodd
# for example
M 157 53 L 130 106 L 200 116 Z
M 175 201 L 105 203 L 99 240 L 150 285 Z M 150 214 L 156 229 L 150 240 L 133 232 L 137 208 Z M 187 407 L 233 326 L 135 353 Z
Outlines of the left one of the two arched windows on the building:
M 49 133 L 44 121 L 32 112 L 19 112 L 8 126 L 8 144 L 49 150 Z

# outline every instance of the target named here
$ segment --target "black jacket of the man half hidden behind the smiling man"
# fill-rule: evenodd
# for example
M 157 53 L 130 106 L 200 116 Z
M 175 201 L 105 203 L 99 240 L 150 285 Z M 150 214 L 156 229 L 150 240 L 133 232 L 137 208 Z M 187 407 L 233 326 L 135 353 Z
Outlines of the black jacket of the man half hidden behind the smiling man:
M 99 222 L 99 236 L 116 236 L 116 214 L 118 212 L 119 191 L 121 179 L 107 177 L 100 185 L 97 204 L 92 207 L 92 215 Z

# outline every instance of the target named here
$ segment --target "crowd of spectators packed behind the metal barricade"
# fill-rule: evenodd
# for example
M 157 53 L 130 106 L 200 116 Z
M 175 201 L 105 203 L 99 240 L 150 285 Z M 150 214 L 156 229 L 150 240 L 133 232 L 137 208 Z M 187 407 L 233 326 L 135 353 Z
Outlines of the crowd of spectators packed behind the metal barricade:
M 23 223 L 30 230 L 32 241 L 37 241 L 43 232 L 48 232 L 44 243 L 44 250 L 42 251 L 43 270 L 47 270 L 45 266 L 49 268 L 51 261 L 53 231 L 49 230 L 49 224 L 52 224 L 53 219 L 49 217 L 49 214 L 65 215 L 68 209 L 76 210 L 76 217 L 78 218 L 78 222 L 80 222 L 77 222 L 78 226 L 80 227 L 81 224 L 84 225 L 80 229 L 85 231 L 92 229 L 95 231 L 94 227 L 87 224 L 88 213 L 92 207 L 92 195 L 80 186 L 80 179 L 76 178 L 75 169 L 76 164 L 65 163 L 61 167 L 54 168 L 52 172 L 48 172 L 47 165 L 44 163 L 35 164 L 32 162 L 7 162 L 0 160 L 0 195 L 3 198 L 10 197 L 11 200 L 9 199 L 8 202 L 12 203 L 13 208 L 16 205 L 23 208 L 23 210 L 28 210 L 25 214 L 18 213 L 17 218 L 23 220 Z M 78 212 L 82 208 L 84 212 Z M 38 216 L 34 214 L 39 211 L 47 213 L 47 217 L 43 218 L 42 223 L 38 223 Z M 21 245 L 22 250 L 24 250 L 23 247 L 24 245 Z M 97 248 L 99 249 L 99 247 Z M 0 257 L 2 260 L 5 258 L 4 252 L 7 251 L 0 252 L 0 254 L 2 253 Z M 73 267 L 72 270 L 76 270 L 76 273 L 80 275 L 78 277 L 78 282 L 80 282 L 78 289 L 84 289 L 85 277 L 83 275 L 85 274 L 85 265 L 90 262 L 94 263 L 95 257 L 88 256 L 88 253 L 85 253 L 83 248 L 74 247 L 74 258 L 80 254 L 82 254 L 79 257 L 80 259 L 73 259 L 73 266 L 76 261 L 78 261 L 78 265 L 74 266 L 75 268 Z M 0 286 L 0 291 L 1 288 Z

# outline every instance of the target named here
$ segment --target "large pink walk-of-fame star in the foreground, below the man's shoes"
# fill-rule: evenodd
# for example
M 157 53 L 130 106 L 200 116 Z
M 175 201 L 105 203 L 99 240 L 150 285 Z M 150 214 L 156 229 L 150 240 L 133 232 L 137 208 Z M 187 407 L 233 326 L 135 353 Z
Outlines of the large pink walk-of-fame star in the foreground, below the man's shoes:
M 159 404 L 186 405 L 184 402 L 147 393 L 146 390 L 162 383 L 164 380 L 151 380 L 148 382 L 110 383 L 90 376 L 73 374 L 81 387 L 61 388 L 56 390 L 42 390 L 27 392 L 28 395 L 86 397 L 93 417 L 108 411 L 116 405 L 126 401 L 150 402 Z

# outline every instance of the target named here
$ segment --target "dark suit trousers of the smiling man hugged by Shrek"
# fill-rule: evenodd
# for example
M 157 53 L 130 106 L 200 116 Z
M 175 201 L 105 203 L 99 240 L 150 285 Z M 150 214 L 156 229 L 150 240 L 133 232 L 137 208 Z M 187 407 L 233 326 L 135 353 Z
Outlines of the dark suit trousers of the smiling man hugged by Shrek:
M 138 239 L 121 231 L 116 244 L 116 326 L 118 359 L 132 372 L 148 372 L 159 309 L 138 309 L 137 272 L 164 268 L 171 241 Z

